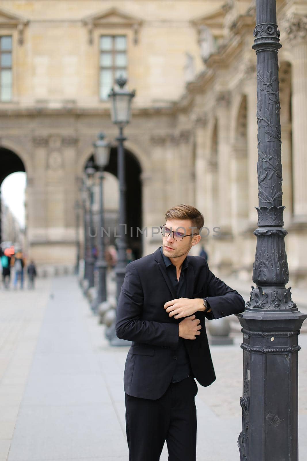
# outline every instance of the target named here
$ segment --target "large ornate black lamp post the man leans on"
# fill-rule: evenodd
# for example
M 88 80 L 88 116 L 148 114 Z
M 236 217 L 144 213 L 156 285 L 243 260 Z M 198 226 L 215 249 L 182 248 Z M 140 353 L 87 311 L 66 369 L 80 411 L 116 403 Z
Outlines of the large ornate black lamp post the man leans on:
M 284 236 L 276 0 L 256 0 L 258 229 L 243 327 L 241 461 L 298 460 L 297 335 L 307 317 L 291 299 Z

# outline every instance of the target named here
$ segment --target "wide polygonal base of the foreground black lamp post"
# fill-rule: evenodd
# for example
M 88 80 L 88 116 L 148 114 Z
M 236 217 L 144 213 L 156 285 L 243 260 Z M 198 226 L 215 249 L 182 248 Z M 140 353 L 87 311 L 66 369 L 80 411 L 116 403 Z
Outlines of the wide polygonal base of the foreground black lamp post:
M 297 461 L 297 336 L 307 315 L 246 309 L 237 317 L 243 327 L 240 458 Z

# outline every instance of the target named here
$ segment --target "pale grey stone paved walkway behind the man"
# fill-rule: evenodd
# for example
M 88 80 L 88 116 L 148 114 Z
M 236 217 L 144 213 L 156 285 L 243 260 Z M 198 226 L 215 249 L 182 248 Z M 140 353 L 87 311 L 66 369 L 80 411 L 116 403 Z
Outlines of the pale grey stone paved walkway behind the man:
M 233 334 L 234 345 L 211 347 L 217 381 L 199 386 L 197 461 L 239 461 L 242 350 L 241 333 Z M 302 461 L 307 335 L 299 339 Z M 74 277 L 38 280 L 35 291 L 1 290 L 0 461 L 127 461 L 126 355 L 109 346 Z

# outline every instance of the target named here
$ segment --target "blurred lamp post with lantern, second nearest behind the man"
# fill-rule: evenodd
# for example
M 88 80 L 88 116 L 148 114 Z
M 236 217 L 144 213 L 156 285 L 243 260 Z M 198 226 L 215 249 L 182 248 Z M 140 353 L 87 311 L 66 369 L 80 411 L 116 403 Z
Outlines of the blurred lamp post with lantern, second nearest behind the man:
M 107 263 L 104 259 L 104 199 L 103 199 L 103 180 L 104 180 L 104 167 L 109 163 L 110 158 L 110 143 L 104 141 L 104 134 L 99 133 L 98 140 L 93 143 L 95 164 L 98 167 L 99 177 L 99 232 L 98 232 L 98 296 L 95 304 L 95 309 L 98 305 L 106 301 L 106 271 Z

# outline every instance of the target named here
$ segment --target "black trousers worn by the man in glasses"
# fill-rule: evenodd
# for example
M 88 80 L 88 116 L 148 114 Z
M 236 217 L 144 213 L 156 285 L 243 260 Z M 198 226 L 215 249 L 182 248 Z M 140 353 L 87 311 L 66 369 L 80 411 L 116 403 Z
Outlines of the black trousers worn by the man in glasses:
M 171 383 L 157 400 L 126 394 L 129 461 L 159 461 L 165 441 L 168 461 L 196 461 L 196 394 L 192 377 Z

